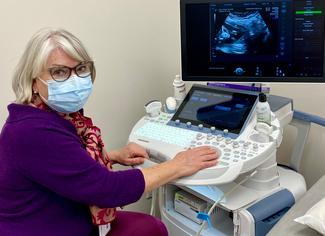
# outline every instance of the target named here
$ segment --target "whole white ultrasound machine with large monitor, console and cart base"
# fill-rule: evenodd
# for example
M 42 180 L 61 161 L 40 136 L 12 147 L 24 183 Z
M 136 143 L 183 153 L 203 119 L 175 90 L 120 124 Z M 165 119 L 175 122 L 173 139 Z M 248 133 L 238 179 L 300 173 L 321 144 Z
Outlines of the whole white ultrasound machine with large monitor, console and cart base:
M 148 103 L 152 109 L 129 142 L 150 154 L 139 168 L 202 145 L 220 158 L 159 189 L 160 215 L 171 236 L 266 235 L 306 192 L 303 176 L 276 161 L 294 115 L 292 100 L 268 95 L 270 125 L 257 123 L 255 108 L 264 83 L 325 82 L 324 5 L 180 1 L 182 79 L 208 83 L 194 84 L 175 112 Z

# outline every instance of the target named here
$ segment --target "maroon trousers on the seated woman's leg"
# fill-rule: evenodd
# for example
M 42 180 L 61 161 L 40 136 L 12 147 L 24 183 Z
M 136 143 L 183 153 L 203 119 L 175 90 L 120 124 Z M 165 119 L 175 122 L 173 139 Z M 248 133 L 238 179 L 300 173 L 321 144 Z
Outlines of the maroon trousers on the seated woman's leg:
M 150 215 L 138 212 L 117 211 L 108 236 L 168 236 L 166 226 Z

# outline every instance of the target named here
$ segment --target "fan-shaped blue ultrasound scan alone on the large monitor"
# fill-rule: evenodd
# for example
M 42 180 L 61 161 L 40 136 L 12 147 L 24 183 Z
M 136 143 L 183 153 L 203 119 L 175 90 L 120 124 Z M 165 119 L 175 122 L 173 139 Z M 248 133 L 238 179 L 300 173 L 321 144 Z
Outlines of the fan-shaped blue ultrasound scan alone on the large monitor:
M 265 54 L 272 43 L 271 31 L 258 11 L 230 12 L 213 39 L 214 50 L 225 54 Z

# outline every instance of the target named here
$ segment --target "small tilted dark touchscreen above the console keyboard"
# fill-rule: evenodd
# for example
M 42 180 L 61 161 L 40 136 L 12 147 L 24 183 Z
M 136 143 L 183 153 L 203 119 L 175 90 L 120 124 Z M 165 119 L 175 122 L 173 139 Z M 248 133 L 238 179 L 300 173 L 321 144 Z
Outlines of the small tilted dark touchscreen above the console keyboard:
M 256 93 L 194 85 L 172 120 L 240 134 L 253 113 L 257 97 Z

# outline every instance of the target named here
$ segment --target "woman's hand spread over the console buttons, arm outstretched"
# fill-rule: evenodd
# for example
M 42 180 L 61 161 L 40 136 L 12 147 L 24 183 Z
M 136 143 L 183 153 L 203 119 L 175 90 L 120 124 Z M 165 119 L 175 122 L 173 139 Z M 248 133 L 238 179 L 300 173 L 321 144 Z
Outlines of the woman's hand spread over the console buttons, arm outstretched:
M 179 177 L 184 177 L 215 166 L 218 158 L 219 153 L 215 148 L 202 146 L 178 153 L 172 162 L 178 166 Z

